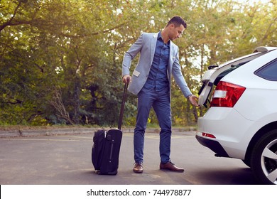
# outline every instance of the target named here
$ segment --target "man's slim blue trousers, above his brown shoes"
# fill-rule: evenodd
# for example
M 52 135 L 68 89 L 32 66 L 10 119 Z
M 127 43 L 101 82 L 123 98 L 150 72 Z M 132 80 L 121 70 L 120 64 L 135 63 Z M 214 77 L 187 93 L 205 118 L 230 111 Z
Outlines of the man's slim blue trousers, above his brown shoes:
M 134 130 L 134 160 L 136 163 L 143 162 L 144 134 L 151 107 L 156 112 L 161 127 L 159 146 L 161 163 L 167 163 L 170 161 L 171 141 L 171 108 L 168 90 L 156 92 L 143 88 L 138 94 L 138 114 Z

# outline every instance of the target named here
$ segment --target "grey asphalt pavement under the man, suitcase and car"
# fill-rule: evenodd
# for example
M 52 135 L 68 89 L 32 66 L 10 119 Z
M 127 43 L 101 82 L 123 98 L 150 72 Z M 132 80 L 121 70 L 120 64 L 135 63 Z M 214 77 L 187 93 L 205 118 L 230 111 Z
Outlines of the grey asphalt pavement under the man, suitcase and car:
M 93 134 L 0 138 L 1 185 L 254 185 L 242 161 L 217 158 L 200 145 L 195 132 L 175 132 L 171 159 L 185 173 L 159 170 L 157 133 L 147 133 L 144 172 L 133 173 L 133 135 L 124 133 L 116 176 L 94 173 Z

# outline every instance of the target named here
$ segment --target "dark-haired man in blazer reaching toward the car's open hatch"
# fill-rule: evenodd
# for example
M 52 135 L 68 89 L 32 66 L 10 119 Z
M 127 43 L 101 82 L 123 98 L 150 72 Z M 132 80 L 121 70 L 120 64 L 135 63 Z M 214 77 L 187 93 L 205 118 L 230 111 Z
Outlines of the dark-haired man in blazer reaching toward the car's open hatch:
M 134 169 L 143 173 L 144 133 L 151 107 L 161 127 L 160 169 L 183 172 L 170 161 L 171 108 L 170 79 L 173 75 L 183 95 L 197 106 L 197 97 L 192 95 L 181 72 L 178 46 L 172 41 L 180 38 L 187 24 L 180 16 L 174 16 L 158 33 L 142 33 L 125 53 L 122 63 L 122 80 L 130 80 L 129 92 L 138 96 L 138 113 L 134 129 Z M 130 76 L 131 61 L 140 53 L 139 63 Z

